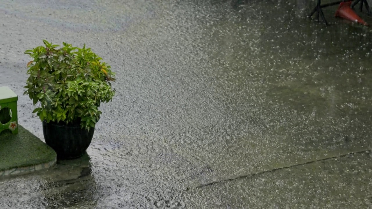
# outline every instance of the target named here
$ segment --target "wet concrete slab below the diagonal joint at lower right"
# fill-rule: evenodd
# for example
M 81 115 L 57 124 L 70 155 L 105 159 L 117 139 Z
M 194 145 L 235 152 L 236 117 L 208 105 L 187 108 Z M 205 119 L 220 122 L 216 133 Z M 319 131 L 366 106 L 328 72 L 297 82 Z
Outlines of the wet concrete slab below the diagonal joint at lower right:
M 364 151 L 201 186 L 173 202 L 216 209 L 372 208 L 371 177 L 371 151 Z

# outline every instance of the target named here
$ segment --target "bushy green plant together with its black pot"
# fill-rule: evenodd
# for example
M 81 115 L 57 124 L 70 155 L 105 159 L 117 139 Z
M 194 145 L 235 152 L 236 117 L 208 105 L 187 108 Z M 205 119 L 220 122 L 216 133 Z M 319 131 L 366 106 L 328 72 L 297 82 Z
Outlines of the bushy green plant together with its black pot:
M 25 51 L 29 75 L 25 93 L 38 105 L 33 113 L 41 119 L 45 143 L 59 159 L 84 154 L 100 119 L 102 102 L 115 94 L 110 81 L 115 73 L 90 48 L 63 46 L 43 40 L 45 46 Z

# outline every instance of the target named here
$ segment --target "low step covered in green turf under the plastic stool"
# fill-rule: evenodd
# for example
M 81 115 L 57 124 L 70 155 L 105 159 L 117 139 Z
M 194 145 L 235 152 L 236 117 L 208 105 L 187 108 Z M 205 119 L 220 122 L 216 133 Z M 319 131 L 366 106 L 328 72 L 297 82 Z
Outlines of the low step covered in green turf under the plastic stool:
M 57 154 L 18 124 L 18 134 L 0 133 L 0 177 L 30 173 L 56 164 Z

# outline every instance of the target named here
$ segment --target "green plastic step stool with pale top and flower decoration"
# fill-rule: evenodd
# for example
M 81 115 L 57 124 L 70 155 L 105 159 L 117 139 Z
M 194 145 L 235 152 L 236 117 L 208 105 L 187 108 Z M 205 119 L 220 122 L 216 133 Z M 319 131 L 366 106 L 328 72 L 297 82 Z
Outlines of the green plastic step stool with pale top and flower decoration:
M 17 115 L 17 100 L 18 96 L 14 93 L 9 87 L 2 86 L 0 87 L 0 111 L 4 107 L 10 109 L 11 115 L 7 118 L 10 118 L 5 124 L 0 122 L 0 133 L 6 129 L 10 129 L 13 134 L 18 134 L 18 115 Z

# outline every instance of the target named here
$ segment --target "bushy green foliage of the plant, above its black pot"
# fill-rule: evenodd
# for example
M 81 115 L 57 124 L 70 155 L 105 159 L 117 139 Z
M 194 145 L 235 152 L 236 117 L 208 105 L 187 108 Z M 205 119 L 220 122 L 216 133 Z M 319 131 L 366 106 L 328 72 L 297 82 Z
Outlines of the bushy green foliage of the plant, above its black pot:
M 115 73 L 90 48 L 63 46 L 43 40 L 45 46 L 25 51 L 33 58 L 27 64 L 26 91 L 33 113 L 46 122 L 80 122 L 81 128 L 93 128 L 100 119 L 101 102 L 115 95 L 110 81 Z

